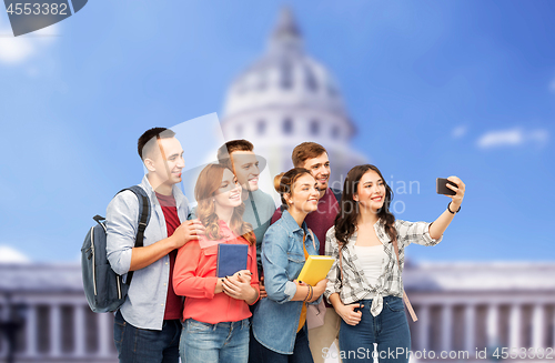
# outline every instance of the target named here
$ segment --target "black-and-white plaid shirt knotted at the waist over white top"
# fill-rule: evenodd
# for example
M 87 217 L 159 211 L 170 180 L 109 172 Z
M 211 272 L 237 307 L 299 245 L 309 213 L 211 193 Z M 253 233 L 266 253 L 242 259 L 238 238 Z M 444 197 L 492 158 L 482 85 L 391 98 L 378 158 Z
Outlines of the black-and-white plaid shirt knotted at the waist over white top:
M 347 305 L 363 300 L 370 293 L 375 296 L 372 300 L 371 312 L 372 315 L 377 316 L 383 309 L 383 296 L 393 295 L 403 298 L 403 278 L 401 272 L 404 266 L 405 248 L 411 243 L 435 245 L 441 242 L 443 236 L 437 240 L 430 236 L 430 224 L 426 222 L 395 221 L 401 269 L 398 269 L 395 250 L 390 236 L 385 232 L 384 224 L 381 221 L 374 224 L 377 239 L 383 243 L 386 255 L 382 263 L 382 272 L 375 284 L 369 283 L 361 266 L 361 261 L 356 255 L 354 249 L 357 235 L 356 231 L 351 235 L 342 251 L 343 281 L 341 281 L 340 251 L 337 240 L 335 239 L 335 226 L 332 226 L 325 236 L 325 254 L 335 258 L 335 262 L 327 274 L 329 282 L 324 293 L 325 298 L 329 300 L 331 294 L 339 293 L 343 304 Z

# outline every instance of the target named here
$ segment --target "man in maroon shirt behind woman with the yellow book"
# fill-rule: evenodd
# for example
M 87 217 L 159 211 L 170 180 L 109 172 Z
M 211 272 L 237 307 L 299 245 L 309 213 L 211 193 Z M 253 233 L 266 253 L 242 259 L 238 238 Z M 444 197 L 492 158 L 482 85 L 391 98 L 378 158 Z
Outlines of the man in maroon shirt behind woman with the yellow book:
M 306 225 L 314 232 L 320 241 L 320 254 L 325 254 L 325 233 L 333 225 L 339 212 L 341 191 L 329 188 L 330 160 L 327 151 L 315 142 L 303 142 L 293 149 L 291 155 L 295 168 L 310 170 L 316 179 L 320 190 L 317 210 L 305 218 Z M 272 216 L 272 224 L 281 218 L 281 209 Z M 325 302 L 324 325 L 309 330 L 309 341 L 315 363 L 323 363 L 322 350 L 330 347 L 339 335 L 340 316 L 332 305 Z M 339 346 L 339 345 L 337 345 Z

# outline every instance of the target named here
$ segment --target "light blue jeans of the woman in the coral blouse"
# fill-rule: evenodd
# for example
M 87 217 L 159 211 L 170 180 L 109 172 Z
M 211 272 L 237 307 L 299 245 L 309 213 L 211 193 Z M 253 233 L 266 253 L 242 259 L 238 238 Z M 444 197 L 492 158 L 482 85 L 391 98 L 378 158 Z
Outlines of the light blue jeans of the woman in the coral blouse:
M 179 344 L 182 363 L 246 363 L 249 319 L 209 324 L 188 319 Z

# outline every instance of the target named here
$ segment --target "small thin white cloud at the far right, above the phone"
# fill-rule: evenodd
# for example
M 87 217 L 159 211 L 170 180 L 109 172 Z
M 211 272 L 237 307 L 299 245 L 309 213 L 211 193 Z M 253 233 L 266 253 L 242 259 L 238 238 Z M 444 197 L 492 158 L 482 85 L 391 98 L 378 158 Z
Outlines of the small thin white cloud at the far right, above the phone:
M 509 130 L 490 131 L 484 133 L 477 141 L 481 149 L 492 149 L 500 147 L 518 147 L 528 143 L 535 143 L 543 147 L 549 140 L 547 130 L 531 130 L 526 131 L 522 128 Z

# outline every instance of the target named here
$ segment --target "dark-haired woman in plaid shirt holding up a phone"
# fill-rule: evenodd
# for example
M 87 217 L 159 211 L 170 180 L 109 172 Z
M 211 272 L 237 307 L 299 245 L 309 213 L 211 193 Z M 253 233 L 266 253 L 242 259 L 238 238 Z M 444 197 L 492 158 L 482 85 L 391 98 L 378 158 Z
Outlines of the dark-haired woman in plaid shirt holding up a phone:
M 327 275 L 325 296 L 342 317 L 340 353 L 343 363 L 408 362 L 411 335 L 403 306 L 401 276 L 404 250 L 411 243 L 435 245 L 458 212 L 465 185 L 457 186 L 447 209 L 433 223 L 395 220 L 389 211 L 391 188 L 374 165 L 347 173 L 335 225 L 326 234 L 326 254 L 336 261 Z M 395 253 L 398 248 L 398 261 Z M 365 354 L 359 354 L 360 349 Z M 403 354 L 396 354 L 403 349 Z M 393 353 L 391 353 L 393 352 Z

